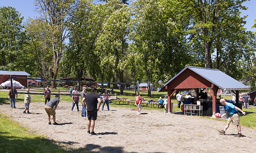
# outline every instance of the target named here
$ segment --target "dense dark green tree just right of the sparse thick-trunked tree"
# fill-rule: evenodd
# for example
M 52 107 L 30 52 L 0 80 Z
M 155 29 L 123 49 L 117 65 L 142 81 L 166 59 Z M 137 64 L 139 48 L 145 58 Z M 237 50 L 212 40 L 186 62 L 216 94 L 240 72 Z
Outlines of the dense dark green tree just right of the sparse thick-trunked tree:
M 78 1 L 76 9 L 72 12 L 73 20 L 69 24 L 69 47 L 63 63 L 72 63 L 70 68 L 76 74 L 77 81 L 81 81 L 81 77 L 88 70 L 87 63 L 94 46 L 90 37 L 90 5 L 89 0 Z M 80 83 L 77 83 L 77 86 L 79 89 Z

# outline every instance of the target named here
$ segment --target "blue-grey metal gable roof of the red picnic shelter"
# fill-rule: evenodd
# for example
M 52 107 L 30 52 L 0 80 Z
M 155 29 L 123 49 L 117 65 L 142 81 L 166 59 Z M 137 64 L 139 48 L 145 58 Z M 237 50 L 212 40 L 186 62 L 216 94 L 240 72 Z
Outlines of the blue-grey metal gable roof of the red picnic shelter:
M 227 74 L 221 72 L 220 70 L 206 69 L 206 68 L 194 67 L 194 66 L 186 66 L 176 76 L 174 76 L 171 80 L 165 83 L 165 85 L 161 87 L 161 89 L 164 88 L 168 83 L 170 83 L 173 79 L 179 76 L 179 74 L 186 69 L 190 69 L 194 71 L 198 75 L 202 76 L 203 78 L 205 78 L 206 80 L 215 84 L 217 87 L 220 87 L 223 90 L 249 90 L 249 87 L 233 79 L 231 76 L 228 76 Z

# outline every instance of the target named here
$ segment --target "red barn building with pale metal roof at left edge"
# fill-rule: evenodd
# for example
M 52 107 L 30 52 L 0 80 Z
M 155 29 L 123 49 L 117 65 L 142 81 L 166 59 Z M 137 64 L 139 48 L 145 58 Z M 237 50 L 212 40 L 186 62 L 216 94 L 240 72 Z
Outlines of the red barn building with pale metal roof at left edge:
M 18 76 L 18 77 L 28 77 L 30 74 L 26 73 L 25 71 L 1 71 L 0 70 L 0 84 L 8 81 L 11 79 L 11 76 Z M 16 79 L 15 81 L 18 81 L 21 83 L 24 87 L 28 87 L 28 80 L 27 79 Z

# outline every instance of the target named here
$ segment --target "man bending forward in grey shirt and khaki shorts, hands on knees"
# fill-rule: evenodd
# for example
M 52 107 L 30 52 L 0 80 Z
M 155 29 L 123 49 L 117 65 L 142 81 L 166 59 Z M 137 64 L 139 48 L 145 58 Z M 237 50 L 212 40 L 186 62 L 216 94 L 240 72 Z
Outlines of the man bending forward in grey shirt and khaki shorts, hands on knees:
M 55 98 L 51 99 L 48 103 L 45 105 L 45 111 L 48 115 L 48 124 L 52 124 L 50 119 L 51 115 L 53 115 L 53 125 L 58 125 L 56 122 L 56 108 L 58 104 L 60 103 L 60 96 L 58 94 L 55 95 Z

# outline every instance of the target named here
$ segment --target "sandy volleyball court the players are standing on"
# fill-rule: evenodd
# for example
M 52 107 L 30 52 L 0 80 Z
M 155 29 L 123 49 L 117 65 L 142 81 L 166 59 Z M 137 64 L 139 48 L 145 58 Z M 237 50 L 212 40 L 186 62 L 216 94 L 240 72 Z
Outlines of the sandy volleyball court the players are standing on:
M 30 104 L 32 114 L 23 114 L 24 103 L 0 105 L 0 111 L 11 115 L 24 125 L 74 148 L 85 148 L 99 153 L 255 153 L 256 130 L 242 127 L 242 138 L 236 138 L 237 128 L 231 124 L 226 135 L 225 123 L 196 116 L 166 114 L 142 110 L 142 115 L 128 108 L 99 111 L 95 122 L 97 136 L 87 134 L 87 118 L 71 102 L 60 101 L 56 122 L 48 125 L 43 102 Z M 81 109 L 81 106 L 79 106 Z M 105 110 L 107 110 L 105 106 Z M 53 122 L 53 121 L 52 121 Z

